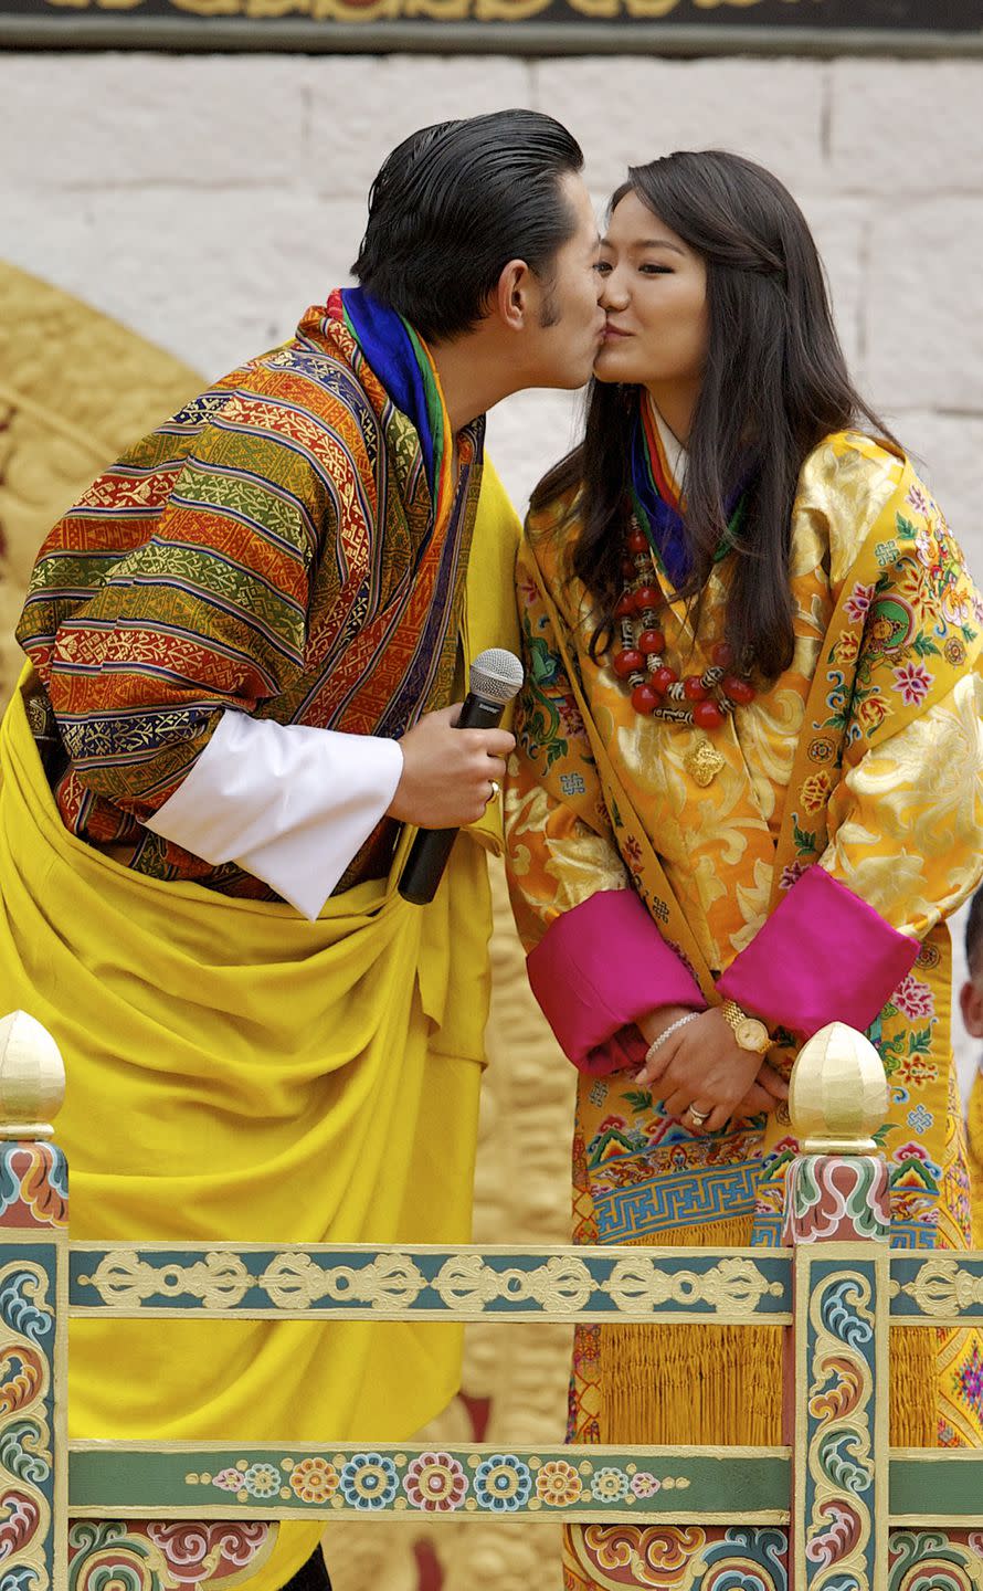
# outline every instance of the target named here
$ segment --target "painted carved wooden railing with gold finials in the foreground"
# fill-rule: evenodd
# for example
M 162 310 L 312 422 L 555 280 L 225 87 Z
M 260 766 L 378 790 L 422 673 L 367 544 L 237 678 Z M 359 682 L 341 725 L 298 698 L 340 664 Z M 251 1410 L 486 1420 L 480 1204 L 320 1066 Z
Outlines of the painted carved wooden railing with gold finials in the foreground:
M 671 1548 L 666 1586 L 687 1591 L 983 1591 L 983 1453 L 891 1449 L 888 1435 L 889 1325 L 983 1327 L 983 1254 L 889 1251 L 888 1168 L 870 1136 L 886 1083 L 853 1029 L 826 1028 L 792 1077 L 802 1153 L 783 1249 L 70 1243 L 65 1158 L 49 1125 L 62 1090 L 49 1034 L 22 1012 L 6 1017 L 0 1591 L 218 1591 L 248 1585 L 280 1519 L 414 1511 L 538 1513 L 595 1524 L 598 1540 L 649 1524 Z M 67 1322 L 97 1311 L 771 1322 L 787 1333 L 786 1445 L 68 1441 Z

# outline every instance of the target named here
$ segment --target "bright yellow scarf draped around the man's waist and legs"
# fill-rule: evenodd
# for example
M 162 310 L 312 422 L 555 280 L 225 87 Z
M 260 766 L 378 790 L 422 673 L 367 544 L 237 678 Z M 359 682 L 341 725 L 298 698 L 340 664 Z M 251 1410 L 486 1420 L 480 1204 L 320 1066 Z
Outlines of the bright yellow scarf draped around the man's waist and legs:
M 479 527 L 466 655 L 517 649 L 519 527 L 495 477 Z M 429 907 L 398 894 L 398 858 L 317 923 L 143 877 L 62 827 L 29 683 L 0 725 L 0 1006 L 37 1017 L 65 1060 L 73 1238 L 466 1243 L 482 845 L 458 840 Z M 498 843 L 496 811 L 477 827 Z M 70 1432 L 401 1441 L 453 1397 L 460 1348 L 458 1327 L 409 1322 L 75 1321 Z M 320 1534 L 282 1526 L 250 1591 L 282 1586 Z

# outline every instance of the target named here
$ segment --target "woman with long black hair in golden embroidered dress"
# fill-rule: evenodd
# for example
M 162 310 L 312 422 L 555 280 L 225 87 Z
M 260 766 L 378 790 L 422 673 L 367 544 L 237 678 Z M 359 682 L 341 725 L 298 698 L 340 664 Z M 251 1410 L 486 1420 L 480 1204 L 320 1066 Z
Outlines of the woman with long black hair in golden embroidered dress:
M 520 552 L 507 792 L 530 978 L 581 1072 L 576 1236 L 776 1243 L 784 1079 L 838 1018 L 889 1074 L 896 1241 L 966 1247 L 943 920 L 983 870 L 980 598 L 768 172 L 633 167 L 600 272 L 585 438 Z M 935 1367 L 899 1333 L 896 1443 L 980 1440 L 973 1348 Z M 776 1441 L 778 1351 L 582 1328 L 571 1433 Z

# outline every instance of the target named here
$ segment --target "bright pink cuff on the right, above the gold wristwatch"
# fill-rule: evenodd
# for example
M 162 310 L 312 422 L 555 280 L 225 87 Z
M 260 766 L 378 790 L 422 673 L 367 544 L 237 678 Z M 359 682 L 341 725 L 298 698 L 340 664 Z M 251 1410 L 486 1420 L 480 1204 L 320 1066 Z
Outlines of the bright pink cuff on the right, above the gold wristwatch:
M 868 1028 L 911 969 L 918 943 L 826 872 L 810 867 L 717 988 L 744 1010 L 811 1037 L 827 1021 Z

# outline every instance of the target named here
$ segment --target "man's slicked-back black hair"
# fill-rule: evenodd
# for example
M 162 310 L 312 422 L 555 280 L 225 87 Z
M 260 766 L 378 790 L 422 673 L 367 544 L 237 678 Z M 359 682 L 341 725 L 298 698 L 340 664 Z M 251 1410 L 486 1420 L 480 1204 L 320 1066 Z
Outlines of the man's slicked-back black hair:
M 509 259 L 549 291 L 576 228 L 560 183 L 582 165 L 576 138 L 534 110 L 423 127 L 372 183 L 353 275 L 426 340 L 471 331 Z

